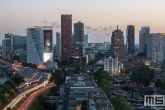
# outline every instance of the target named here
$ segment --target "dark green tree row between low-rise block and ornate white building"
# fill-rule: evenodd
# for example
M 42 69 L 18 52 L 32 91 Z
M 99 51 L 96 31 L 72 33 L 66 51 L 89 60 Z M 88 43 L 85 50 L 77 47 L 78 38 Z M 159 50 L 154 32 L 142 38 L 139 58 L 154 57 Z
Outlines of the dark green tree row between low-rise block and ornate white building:
M 94 73 L 94 79 L 98 83 L 98 85 L 103 89 L 103 91 L 107 94 L 109 97 L 110 93 L 110 76 L 109 73 L 99 69 Z

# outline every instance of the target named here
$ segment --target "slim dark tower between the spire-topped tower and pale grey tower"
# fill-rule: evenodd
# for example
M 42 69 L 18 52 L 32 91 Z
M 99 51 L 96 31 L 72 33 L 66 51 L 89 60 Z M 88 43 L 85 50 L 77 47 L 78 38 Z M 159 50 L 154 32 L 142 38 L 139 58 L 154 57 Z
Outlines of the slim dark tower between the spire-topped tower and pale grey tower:
M 135 53 L 135 27 L 128 25 L 126 34 L 127 55 L 133 55 Z

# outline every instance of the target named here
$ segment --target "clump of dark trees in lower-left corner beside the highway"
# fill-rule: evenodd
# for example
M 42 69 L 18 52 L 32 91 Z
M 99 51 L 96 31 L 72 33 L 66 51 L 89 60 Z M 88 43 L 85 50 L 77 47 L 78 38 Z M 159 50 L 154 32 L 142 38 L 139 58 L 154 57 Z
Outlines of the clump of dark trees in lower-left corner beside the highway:
M 7 80 L 4 84 L 0 85 L 0 107 L 17 95 L 16 86 L 23 82 L 25 82 L 24 78 L 19 74 L 15 74 L 11 77 L 11 80 Z

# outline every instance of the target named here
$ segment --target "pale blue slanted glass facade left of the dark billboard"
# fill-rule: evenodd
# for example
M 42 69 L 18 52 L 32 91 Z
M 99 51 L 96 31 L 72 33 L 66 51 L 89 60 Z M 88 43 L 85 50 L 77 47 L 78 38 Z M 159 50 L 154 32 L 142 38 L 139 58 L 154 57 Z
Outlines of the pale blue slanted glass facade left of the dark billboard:
M 43 61 L 43 32 L 41 27 L 27 29 L 27 62 L 40 64 Z

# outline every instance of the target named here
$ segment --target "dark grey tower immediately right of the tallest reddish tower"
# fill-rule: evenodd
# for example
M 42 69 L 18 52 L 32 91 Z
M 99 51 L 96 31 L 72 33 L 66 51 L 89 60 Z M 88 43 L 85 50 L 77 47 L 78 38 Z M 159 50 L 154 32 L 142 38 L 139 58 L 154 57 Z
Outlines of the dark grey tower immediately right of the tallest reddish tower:
M 74 43 L 84 43 L 84 23 L 74 23 Z

